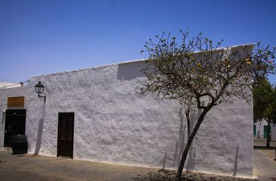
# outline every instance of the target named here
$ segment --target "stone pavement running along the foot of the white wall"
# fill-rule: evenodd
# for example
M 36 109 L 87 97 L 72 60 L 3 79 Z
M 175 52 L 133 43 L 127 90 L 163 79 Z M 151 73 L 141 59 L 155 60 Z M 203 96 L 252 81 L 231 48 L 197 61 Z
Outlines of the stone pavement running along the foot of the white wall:
M 261 160 L 259 161 L 255 159 L 258 163 L 266 164 L 266 161 L 262 162 L 262 160 L 266 158 L 266 155 L 259 150 L 257 150 L 256 158 L 258 157 L 260 157 Z M 257 175 L 261 177 L 263 175 L 266 176 L 266 167 L 260 166 L 257 170 L 259 171 Z M 52 156 L 34 156 L 31 154 L 12 155 L 10 149 L 0 149 L 0 180 L 4 181 L 172 181 L 174 176 L 175 171 L 161 171 L 158 169 L 150 169 L 145 167 L 131 167 L 118 164 L 89 162 L 85 160 L 71 160 L 68 158 L 57 158 Z M 183 180 L 248 181 L 251 179 L 205 173 L 184 172 Z M 271 178 L 270 181 L 272 181 Z

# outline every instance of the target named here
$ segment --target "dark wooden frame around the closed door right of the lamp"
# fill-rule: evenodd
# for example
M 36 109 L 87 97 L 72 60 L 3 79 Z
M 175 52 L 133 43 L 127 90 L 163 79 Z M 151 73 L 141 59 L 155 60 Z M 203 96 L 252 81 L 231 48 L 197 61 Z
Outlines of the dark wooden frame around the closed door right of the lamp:
M 61 133 L 60 133 L 60 127 L 61 127 L 61 115 L 72 115 L 73 119 L 72 119 L 72 142 L 71 142 L 71 153 L 70 155 L 71 156 L 62 156 L 59 152 L 60 152 L 60 144 L 59 144 L 59 141 L 60 141 L 60 136 L 61 136 Z M 57 157 L 59 156 L 62 156 L 62 157 L 68 157 L 68 158 L 72 158 L 73 159 L 73 155 L 74 155 L 74 132 L 75 132 L 75 112 L 59 112 L 58 113 L 58 124 L 57 124 Z

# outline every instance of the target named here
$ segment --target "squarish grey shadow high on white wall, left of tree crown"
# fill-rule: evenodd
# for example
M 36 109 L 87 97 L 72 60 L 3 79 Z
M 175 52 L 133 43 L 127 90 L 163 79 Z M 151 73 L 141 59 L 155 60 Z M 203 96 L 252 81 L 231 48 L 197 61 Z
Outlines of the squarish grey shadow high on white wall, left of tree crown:
M 118 65 L 117 79 L 130 81 L 136 77 L 144 77 L 144 73 L 141 72 L 144 68 L 144 61 L 121 63 Z

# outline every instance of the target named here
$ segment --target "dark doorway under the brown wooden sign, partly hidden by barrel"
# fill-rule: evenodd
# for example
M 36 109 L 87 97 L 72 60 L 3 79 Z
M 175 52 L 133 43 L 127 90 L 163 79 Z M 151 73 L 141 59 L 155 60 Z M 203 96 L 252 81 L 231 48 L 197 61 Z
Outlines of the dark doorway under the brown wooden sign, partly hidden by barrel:
M 7 109 L 4 147 L 12 147 L 12 136 L 25 134 L 26 109 Z

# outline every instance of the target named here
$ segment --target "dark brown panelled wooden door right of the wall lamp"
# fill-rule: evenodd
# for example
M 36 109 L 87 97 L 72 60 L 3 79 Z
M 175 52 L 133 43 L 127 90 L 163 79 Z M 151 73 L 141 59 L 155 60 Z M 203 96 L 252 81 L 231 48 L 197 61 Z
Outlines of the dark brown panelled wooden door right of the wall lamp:
M 57 133 L 57 156 L 73 158 L 74 118 L 73 112 L 59 113 L 59 129 Z

